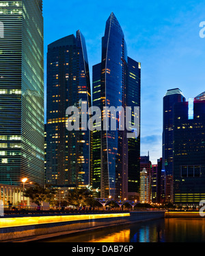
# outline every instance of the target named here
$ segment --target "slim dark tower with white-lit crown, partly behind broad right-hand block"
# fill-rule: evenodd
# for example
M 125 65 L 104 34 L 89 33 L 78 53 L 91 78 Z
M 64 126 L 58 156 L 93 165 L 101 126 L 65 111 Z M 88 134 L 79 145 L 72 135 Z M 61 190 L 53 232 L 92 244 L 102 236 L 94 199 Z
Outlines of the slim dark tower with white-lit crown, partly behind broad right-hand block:
M 165 200 L 173 201 L 173 108 L 185 98 L 180 89 L 168 90 L 163 97 L 163 170 L 165 170 Z

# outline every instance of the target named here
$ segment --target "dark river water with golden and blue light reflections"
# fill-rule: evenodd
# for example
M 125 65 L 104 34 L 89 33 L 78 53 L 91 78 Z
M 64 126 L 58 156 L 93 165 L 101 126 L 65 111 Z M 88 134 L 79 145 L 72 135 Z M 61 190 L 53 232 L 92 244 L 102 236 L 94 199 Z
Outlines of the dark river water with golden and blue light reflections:
M 55 237 L 43 242 L 205 242 L 205 219 L 167 218 Z

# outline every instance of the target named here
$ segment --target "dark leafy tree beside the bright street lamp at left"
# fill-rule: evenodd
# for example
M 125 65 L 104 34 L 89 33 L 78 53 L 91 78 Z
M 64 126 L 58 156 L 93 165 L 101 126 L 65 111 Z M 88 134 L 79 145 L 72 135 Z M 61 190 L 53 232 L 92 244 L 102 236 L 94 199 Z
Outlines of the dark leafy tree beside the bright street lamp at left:
M 34 187 L 29 187 L 23 191 L 23 196 L 30 198 L 31 202 L 36 205 L 42 205 L 42 202 L 49 202 L 52 204 L 55 198 L 55 189 L 52 189 L 50 185 L 40 187 L 38 183 L 34 184 Z

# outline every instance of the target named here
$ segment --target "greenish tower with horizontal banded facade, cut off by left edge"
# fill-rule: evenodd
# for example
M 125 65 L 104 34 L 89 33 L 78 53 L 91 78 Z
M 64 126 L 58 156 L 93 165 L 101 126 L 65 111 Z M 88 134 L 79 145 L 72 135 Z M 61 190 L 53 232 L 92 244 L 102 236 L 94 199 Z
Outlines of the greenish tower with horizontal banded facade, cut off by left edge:
M 43 186 L 42 1 L 0 1 L 0 20 L 0 183 Z

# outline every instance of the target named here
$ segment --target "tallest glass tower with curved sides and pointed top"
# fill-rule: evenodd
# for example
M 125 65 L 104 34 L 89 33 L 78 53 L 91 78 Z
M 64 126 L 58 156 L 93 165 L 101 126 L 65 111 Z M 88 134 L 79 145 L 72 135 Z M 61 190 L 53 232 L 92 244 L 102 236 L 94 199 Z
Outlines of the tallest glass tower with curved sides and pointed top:
M 101 109 L 106 106 L 124 107 L 126 63 L 127 52 L 124 33 L 112 12 L 106 22 L 105 36 L 102 37 Z M 105 113 L 103 114 L 105 115 Z M 116 127 L 118 129 L 119 117 L 116 115 L 113 118 L 116 118 Z M 102 196 L 106 198 L 107 196 L 115 197 L 115 195 L 119 195 L 121 198 L 123 187 L 120 184 L 123 182 L 123 176 L 127 175 L 126 155 L 124 155 L 124 147 L 126 147 L 124 132 L 111 130 L 109 126 L 109 130 L 102 130 L 101 140 Z

